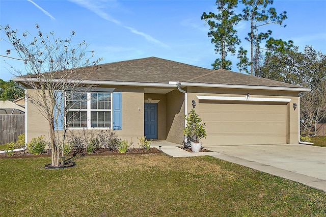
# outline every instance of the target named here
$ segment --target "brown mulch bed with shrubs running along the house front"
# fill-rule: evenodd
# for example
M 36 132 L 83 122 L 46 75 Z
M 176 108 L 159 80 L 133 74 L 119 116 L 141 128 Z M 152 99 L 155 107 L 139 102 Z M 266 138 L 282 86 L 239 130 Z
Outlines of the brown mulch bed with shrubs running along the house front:
M 106 156 L 106 155 L 126 155 L 126 154 L 155 154 L 155 153 L 162 153 L 157 148 L 150 148 L 149 151 L 145 149 L 139 149 L 139 148 L 130 148 L 127 150 L 126 153 L 120 153 L 118 149 L 108 150 L 105 148 L 99 149 L 94 151 L 93 153 L 87 153 L 86 149 L 78 151 L 78 153 L 70 153 L 68 156 Z M 28 158 L 28 157 L 50 157 L 51 156 L 51 150 L 47 149 L 43 154 L 36 155 L 28 152 L 27 150 L 24 151 L 15 151 L 13 156 L 8 156 L 7 153 L 1 153 L 0 158 Z

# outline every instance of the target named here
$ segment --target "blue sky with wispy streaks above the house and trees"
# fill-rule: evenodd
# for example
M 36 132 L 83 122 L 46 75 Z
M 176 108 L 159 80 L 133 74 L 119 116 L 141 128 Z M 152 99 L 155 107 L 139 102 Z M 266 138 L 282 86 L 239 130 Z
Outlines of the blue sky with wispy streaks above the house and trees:
M 275 0 L 273 7 L 287 11 L 288 19 L 286 28 L 267 26 L 272 37 L 293 40 L 300 50 L 312 45 L 326 53 L 326 1 Z M 0 24 L 33 34 L 38 23 L 43 34 L 53 31 L 64 39 L 74 31 L 74 44 L 85 40 L 96 58 L 103 58 L 101 64 L 158 57 L 211 68 L 218 56 L 200 19 L 210 11 L 217 13 L 215 0 L 0 0 Z M 244 40 L 249 24 L 241 22 L 236 29 L 241 46 L 249 49 Z M 1 41 L 0 55 L 8 48 Z M 232 71 L 238 71 L 236 57 L 229 59 Z M 13 75 L 4 60 L 0 57 L 0 78 L 9 80 Z M 6 61 L 23 70 L 20 61 Z

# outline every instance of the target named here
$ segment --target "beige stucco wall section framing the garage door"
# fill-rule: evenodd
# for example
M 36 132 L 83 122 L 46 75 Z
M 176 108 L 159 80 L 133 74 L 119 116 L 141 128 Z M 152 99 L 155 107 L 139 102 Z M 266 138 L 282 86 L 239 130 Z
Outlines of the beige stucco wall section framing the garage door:
M 199 100 L 196 95 L 244 97 L 247 93 L 250 94 L 250 97 L 290 98 L 291 101 L 286 105 L 286 143 L 298 143 L 298 109 L 295 111 L 293 109 L 293 103 L 298 105 L 298 92 L 295 91 L 188 87 L 187 109 L 188 111 L 192 109 L 192 100 L 195 100 L 196 104 L 199 105 Z M 199 106 L 196 106 L 195 109 L 200 110 Z

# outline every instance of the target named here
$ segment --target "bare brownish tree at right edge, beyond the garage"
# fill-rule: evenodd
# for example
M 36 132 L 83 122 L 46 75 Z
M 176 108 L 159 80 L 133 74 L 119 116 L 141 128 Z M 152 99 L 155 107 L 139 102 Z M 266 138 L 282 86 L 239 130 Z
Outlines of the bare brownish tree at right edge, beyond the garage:
M 300 110 L 303 131 L 309 134 L 315 124 L 326 117 L 326 79 L 301 98 Z

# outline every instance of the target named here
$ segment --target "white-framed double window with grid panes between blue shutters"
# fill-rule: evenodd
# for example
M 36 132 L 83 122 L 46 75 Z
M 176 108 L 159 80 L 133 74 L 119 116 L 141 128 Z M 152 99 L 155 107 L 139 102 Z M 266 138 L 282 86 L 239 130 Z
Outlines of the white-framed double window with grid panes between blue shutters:
M 112 93 L 66 92 L 66 124 L 71 128 L 112 128 Z

